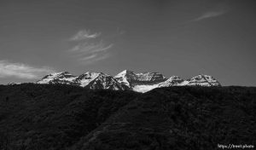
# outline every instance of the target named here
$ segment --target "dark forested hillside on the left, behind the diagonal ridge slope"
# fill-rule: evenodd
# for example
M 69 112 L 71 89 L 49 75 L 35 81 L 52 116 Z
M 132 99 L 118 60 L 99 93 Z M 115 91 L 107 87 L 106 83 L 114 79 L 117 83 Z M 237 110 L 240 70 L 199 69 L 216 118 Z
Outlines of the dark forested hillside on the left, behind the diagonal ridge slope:
M 0 149 L 65 149 L 137 97 L 68 85 L 0 86 Z

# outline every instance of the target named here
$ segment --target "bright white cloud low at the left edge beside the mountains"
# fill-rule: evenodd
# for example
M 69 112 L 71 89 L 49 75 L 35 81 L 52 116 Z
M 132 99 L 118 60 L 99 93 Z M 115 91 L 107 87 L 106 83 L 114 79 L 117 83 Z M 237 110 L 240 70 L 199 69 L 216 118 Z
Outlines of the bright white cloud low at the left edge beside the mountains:
M 14 63 L 9 61 L 0 61 L 0 78 L 25 78 L 35 79 L 42 75 L 55 72 L 49 67 L 34 67 L 22 63 Z

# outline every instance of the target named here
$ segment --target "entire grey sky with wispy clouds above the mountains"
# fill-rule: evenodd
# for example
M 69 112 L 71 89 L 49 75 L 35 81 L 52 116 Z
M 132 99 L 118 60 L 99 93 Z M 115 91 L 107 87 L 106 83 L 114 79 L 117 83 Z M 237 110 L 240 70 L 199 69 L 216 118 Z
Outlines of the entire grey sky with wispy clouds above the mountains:
M 253 0 L 0 0 L 0 84 L 127 69 L 256 86 Z

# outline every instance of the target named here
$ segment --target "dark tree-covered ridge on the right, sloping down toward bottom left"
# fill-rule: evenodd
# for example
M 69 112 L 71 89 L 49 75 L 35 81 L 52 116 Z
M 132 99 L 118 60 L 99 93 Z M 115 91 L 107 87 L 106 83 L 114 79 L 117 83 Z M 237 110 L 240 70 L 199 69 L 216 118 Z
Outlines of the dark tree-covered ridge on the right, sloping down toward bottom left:
M 73 149 L 218 149 L 256 144 L 256 88 L 154 89 L 108 118 Z

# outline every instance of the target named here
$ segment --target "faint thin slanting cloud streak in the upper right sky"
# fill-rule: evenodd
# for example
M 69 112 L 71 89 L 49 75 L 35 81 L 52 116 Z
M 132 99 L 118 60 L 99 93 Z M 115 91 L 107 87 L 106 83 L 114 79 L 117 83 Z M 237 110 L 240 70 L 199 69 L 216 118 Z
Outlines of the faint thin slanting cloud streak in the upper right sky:
M 193 21 L 199 21 L 199 20 L 205 20 L 208 18 L 218 17 L 220 15 L 227 13 L 228 11 L 229 11 L 229 7 L 227 5 L 219 4 L 218 7 L 201 14 L 199 17 L 197 17 Z

